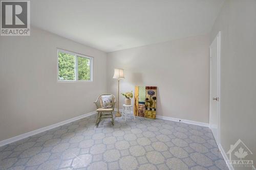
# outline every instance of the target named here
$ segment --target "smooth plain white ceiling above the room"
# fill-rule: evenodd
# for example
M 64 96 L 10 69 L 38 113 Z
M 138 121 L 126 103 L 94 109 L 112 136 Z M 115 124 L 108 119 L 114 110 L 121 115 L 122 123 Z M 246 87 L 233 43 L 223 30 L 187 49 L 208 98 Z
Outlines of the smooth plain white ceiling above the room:
M 31 0 L 31 25 L 113 52 L 210 31 L 224 0 Z

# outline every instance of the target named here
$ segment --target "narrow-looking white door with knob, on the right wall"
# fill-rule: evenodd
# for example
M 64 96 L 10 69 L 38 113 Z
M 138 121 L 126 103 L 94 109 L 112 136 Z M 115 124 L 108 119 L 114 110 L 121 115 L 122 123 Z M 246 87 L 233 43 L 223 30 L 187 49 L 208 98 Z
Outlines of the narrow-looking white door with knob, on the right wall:
M 210 129 L 220 143 L 220 32 L 212 41 L 210 51 Z

